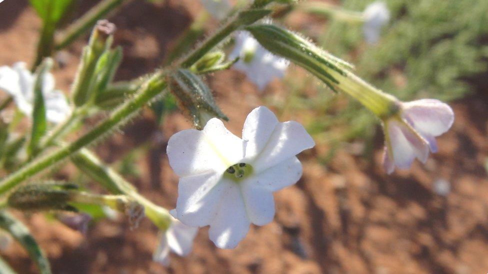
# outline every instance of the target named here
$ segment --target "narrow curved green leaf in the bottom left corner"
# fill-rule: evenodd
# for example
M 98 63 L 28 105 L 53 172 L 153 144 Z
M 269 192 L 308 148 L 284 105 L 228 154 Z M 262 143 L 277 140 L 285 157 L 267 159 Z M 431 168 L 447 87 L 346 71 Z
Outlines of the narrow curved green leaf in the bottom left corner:
M 27 227 L 6 211 L 0 211 L 0 228 L 10 233 L 28 253 L 30 259 L 34 261 L 41 274 L 50 274 L 49 261 L 30 234 Z

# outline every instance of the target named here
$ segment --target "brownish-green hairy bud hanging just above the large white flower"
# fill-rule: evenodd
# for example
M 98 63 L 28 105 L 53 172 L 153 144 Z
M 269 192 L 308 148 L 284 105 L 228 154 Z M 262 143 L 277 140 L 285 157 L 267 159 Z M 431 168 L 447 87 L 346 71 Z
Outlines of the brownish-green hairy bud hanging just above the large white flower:
M 180 109 L 187 112 L 196 128 L 203 128 L 212 117 L 228 120 L 213 100 L 210 89 L 191 71 L 178 69 L 168 75 L 167 82 Z

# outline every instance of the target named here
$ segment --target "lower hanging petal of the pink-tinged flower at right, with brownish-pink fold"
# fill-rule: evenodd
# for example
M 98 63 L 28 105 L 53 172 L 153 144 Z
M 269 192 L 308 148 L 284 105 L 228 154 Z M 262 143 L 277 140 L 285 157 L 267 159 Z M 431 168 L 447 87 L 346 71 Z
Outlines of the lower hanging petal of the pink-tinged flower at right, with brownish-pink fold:
M 428 156 L 427 143 L 406 124 L 390 119 L 386 123 L 386 130 L 388 149 L 391 149 L 393 161 L 397 167 L 402 169 L 410 167 L 415 157 L 422 162 L 426 161 Z

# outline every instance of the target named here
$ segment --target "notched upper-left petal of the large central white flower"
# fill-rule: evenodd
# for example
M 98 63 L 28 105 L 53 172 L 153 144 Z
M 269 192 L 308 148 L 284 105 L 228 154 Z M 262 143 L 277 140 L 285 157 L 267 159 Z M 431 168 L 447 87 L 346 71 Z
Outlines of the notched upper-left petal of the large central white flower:
M 203 130 L 187 129 L 169 138 L 169 165 L 185 177 L 206 172 L 223 173 L 243 157 L 242 140 L 230 133 L 217 118 Z

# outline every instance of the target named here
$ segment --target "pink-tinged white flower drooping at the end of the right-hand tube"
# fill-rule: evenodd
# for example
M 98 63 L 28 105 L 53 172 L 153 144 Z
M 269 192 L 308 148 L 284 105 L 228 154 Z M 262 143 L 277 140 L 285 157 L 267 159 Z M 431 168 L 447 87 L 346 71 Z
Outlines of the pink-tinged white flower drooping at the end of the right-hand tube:
M 395 165 L 408 168 L 415 157 L 425 163 L 429 148 L 437 152 L 434 137 L 446 132 L 454 121 L 452 109 L 439 100 L 400 102 L 399 107 L 399 115 L 384 121 L 383 164 L 388 174 Z

